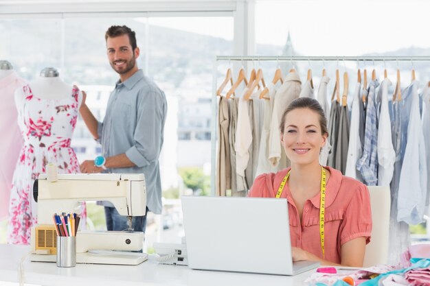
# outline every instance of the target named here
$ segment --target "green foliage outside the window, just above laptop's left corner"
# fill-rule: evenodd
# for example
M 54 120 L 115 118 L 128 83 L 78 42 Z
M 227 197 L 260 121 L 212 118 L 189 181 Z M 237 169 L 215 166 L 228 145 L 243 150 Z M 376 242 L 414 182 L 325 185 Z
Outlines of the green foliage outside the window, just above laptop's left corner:
M 183 184 L 188 189 L 192 189 L 194 194 L 210 194 L 210 176 L 203 174 L 203 169 L 197 167 L 180 168 L 179 175 L 183 179 Z

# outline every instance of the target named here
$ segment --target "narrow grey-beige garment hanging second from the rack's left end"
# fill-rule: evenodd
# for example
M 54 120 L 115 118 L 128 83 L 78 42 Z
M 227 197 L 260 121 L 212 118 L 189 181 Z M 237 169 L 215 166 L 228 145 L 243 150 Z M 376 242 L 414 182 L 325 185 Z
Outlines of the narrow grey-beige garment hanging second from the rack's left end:
M 229 144 L 230 144 L 230 162 L 231 162 L 231 195 L 240 195 L 248 189 L 245 177 L 239 176 L 236 173 L 236 151 L 234 144 L 236 143 L 236 126 L 238 122 L 238 104 L 239 97 L 234 97 L 230 100 L 230 115 L 229 121 Z

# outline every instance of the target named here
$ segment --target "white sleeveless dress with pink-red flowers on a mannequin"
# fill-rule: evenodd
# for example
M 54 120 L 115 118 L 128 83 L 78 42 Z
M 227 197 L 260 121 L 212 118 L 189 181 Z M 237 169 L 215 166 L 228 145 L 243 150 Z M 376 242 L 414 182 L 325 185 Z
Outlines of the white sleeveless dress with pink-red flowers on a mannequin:
M 37 224 L 34 180 L 45 173 L 47 163 L 56 164 L 59 174 L 80 172 L 70 141 L 82 93 L 73 87 L 68 97 L 41 99 L 33 95 L 28 84 L 20 91 L 23 106 L 18 110 L 18 123 L 24 144 L 12 179 L 8 243 L 30 244 L 30 229 Z M 86 216 L 85 212 L 81 215 Z

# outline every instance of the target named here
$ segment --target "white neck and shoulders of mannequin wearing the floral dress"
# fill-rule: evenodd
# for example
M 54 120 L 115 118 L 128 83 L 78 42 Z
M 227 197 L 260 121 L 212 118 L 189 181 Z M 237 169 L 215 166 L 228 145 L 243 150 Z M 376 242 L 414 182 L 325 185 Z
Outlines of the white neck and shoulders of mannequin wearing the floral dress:
M 69 97 L 73 86 L 63 82 L 59 75 L 60 73 L 52 67 L 43 69 L 40 78 L 29 84 L 33 95 L 41 99 Z

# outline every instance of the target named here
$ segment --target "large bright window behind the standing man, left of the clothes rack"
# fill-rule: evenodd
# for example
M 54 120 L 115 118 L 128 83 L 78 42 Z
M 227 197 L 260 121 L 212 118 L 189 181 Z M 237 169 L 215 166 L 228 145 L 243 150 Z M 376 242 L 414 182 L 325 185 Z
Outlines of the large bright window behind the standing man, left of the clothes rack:
M 137 65 L 155 80 L 168 100 L 160 166 L 163 195 L 173 193 L 177 198 L 179 189 L 183 189 L 179 187 L 182 180 L 178 169 L 203 169 L 202 166 L 210 165 L 210 136 L 205 134 L 207 128 L 203 130 L 202 124 L 210 124 L 210 112 L 200 106 L 185 106 L 204 98 L 205 110 L 210 110 L 214 56 L 233 53 L 233 17 L 199 14 L 203 16 L 112 19 L 100 14 L 94 18 L 0 20 L 0 53 L 2 60 L 9 60 L 17 73 L 29 81 L 36 79 L 43 68 L 56 67 L 65 82 L 87 91 L 87 105 L 102 120 L 118 80 L 106 58 L 104 33 L 110 25 L 128 25 L 135 30 L 141 49 Z M 179 100 L 180 97 L 185 100 Z M 206 114 L 209 118 L 194 118 L 195 108 L 198 115 Z M 180 131 L 182 121 L 196 123 L 191 130 Z M 197 133 L 201 134 L 199 141 Z M 193 141 L 197 143 L 190 144 Z M 80 118 L 71 142 L 80 162 L 102 154 L 102 148 L 96 145 Z M 204 173 L 206 180 L 207 172 Z M 148 219 L 148 223 L 152 221 Z M 168 233 L 172 235 L 171 231 Z M 146 234 L 147 241 L 156 237 L 150 232 Z

